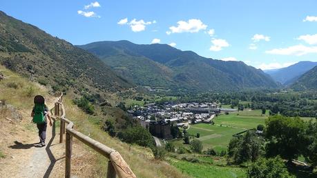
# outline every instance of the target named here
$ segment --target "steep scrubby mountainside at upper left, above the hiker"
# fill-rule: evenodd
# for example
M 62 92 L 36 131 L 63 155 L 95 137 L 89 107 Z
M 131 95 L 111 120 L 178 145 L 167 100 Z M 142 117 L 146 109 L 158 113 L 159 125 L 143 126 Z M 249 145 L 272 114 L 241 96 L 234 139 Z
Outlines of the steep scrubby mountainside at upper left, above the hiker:
M 1 11 L 0 63 L 55 90 L 117 92 L 133 86 L 89 52 Z

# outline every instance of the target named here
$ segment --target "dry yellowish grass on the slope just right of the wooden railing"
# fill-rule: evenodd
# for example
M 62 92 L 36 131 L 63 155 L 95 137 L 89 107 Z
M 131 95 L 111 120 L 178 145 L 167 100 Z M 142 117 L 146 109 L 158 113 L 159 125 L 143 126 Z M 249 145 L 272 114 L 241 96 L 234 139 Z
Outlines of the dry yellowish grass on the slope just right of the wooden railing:
M 85 135 L 89 135 L 102 144 L 120 152 L 137 177 L 186 177 L 186 175 L 182 175 L 181 172 L 165 161 L 155 160 L 149 148 L 135 145 L 130 146 L 119 139 L 110 137 L 99 126 L 93 124 L 93 121 L 88 119 L 88 115 L 73 105 L 70 96 L 64 99 L 64 104 L 66 106 L 66 117 L 75 123 L 75 128 Z M 90 148 L 87 149 L 91 150 Z M 93 150 L 91 151 L 93 152 Z M 94 159 L 89 159 L 88 161 L 90 161 L 88 165 L 91 168 L 88 170 L 89 173 L 87 172 L 87 175 L 90 175 L 92 172 L 95 172 L 97 177 L 104 177 L 106 175 L 108 160 L 105 157 L 95 155 Z

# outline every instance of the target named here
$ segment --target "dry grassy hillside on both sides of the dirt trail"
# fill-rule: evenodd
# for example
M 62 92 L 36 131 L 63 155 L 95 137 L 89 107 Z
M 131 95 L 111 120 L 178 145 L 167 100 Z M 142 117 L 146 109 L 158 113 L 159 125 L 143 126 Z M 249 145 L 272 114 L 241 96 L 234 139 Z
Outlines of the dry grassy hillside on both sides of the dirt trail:
M 30 114 L 28 111 L 30 111 L 32 108 L 32 99 L 35 95 L 44 95 L 48 102 L 52 101 L 53 97 L 48 95 L 48 90 L 44 86 L 40 86 L 38 83 L 30 82 L 28 79 L 20 77 L 16 73 L 7 70 L 3 66 L 0 66 L 0 72 L 5 77 L 5 79 L 0 81 L 0 99 L 5 99 L 6 103 L 17 107 L 17 109 L 21 110 L 21 112 L 26 111 L 26 115 Z M 32 88 L 32 90 L 30 88 Z M 75 123 L 76 130 L 79 130 L 85 135 L 89 135 L 93 139 L 96 139 L 106 146 L 114 148 L 120 152 L 125 161 L 131 166 L 131 169 L 133 172 L 135 172 L 137 177 L 186 177 L 186 175 L 182 175 L 182 173 L 180 173 L 176 168 L 173 168 L 173 166 L 170 166 L 166 162 L 155 160 L 149 148 L 128 145 L 119 139 L 110 137 L 100 128 L 100 119 L 95 116 L 86 115 L 73 104 L 71 101 L 72 98 L 72 95 L 66 95 L 64 98 L 64 104 L 66 106 L 67 118 Z M 1 121 L 2 119 L 5 120 L 1 117 Z M 25 117 L 20 123 L 27 131 L 24 133 L 24 135 L 36 135 L 35 126 L 34 124 L 29 123 L 29 119 L 29 117 Z M 9 128 L 11 130 L 10 132 L 12 133 L 15 132 L 14 130 L 17 129 L 17 127 L 20 127 L 19 123 L 17 123 L 16 126 L 8 126 L 9 127 L 7 128 Z M 58 127 L 56 128 L 56 132 L 58 135 Z M 2 134 L 2 132 L 0 132 L 0 134 Z M 15 137 L 12 138 L 19 139 L 19 136 L 20 135 L 15 134 Z M 1 140 L 3 137 L 3 135 L 0 135 Z M 8 149 L 8 147 L 4 149 L 2 146 L 5 145 L 1 144 L 0 146 L 0 152 L 1 155 L 3 155 L 1 157 L 10 155 L 10 151 L 12 150 Z M 78 150 L 81 150 L 81 152 Z M 10 157 L 0 159 L 10 159 Z M 63 160 L 64 159 L 61 159 L 61 164 L 57 164 L 60 167 L 56 166 L 57 168 L 53 169 L 61 170 L 57 173 L 61 174 L 61 176 L 64 173 L 64 171 L 62 171 L 64 163 Z M 84 144 L 81 144 L 81 142 L 77 141 L 76 139 L 74 139 L 74 155 L 72 160 L 73 174 L 77 175 L 77 177 L 105 177 L 106 175 L 106 165 L 108 160 L 87 146 L 84 146 Z M 58 175 L 53 177 L 58 177 Z

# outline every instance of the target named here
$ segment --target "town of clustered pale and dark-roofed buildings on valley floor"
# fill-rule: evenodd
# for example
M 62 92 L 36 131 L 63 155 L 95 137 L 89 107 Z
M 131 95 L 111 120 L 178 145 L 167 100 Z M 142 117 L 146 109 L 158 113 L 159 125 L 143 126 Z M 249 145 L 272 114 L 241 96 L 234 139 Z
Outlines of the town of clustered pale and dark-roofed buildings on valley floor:
M 162 139 L 171 139 L 171 127 L 188 127 L 190 123 L 211 122 L 211 116 L 218 114 L 217 103 L 149 103 L 134 106 L 128 110 L 134 119 L 140 121 L 151 134 Z

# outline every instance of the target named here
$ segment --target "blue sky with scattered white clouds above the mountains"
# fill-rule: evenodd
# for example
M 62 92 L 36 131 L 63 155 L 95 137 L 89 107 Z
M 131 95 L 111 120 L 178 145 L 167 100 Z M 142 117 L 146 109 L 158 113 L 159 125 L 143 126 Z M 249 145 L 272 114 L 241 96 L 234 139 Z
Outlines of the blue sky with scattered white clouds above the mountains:
M 166 43 L 262 69 L 317 61 L 316 7 L 314 0 L 0 1 L 10 16 L 73 44 Z

